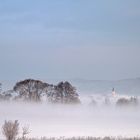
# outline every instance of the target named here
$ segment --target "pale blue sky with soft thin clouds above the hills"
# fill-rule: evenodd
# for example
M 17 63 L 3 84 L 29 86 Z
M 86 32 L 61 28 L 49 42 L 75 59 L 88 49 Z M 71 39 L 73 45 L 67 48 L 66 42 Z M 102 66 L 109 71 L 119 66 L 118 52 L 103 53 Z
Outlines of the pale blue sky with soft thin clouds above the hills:
M 0 80 L 140 77 L 139 0 L 0 1 Z

